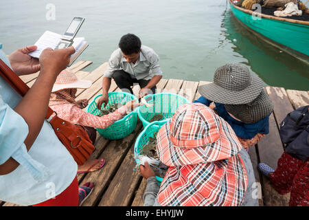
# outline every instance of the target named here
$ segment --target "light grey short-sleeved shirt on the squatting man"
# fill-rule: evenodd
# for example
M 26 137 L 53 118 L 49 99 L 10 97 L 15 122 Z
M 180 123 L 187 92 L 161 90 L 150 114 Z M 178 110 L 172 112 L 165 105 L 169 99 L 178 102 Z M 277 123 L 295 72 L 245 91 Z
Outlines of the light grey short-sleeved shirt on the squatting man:
M 104 73 L 104 77 L 112 78 L 116 70 L 124 70 L 124 72 L 137 80 L 150 80 L 153 76 L 162 75 L 159 56 L 150 47 L 144 45 L 141 45 L 141 52 L 135 64 L 126 61 L 120 48 L 115 50 L 108 61 L 108 68 Z

